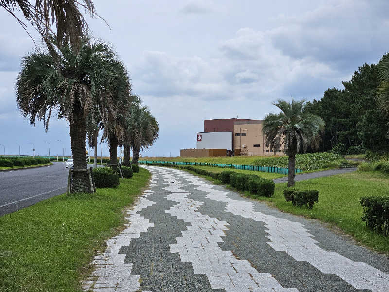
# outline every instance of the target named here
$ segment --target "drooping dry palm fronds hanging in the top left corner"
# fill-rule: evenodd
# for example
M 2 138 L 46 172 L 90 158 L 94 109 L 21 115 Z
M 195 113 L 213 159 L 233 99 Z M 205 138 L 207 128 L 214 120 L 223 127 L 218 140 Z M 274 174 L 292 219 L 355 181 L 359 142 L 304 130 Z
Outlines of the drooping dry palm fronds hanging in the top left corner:
M 17 19 L 26 32 L 27 25 L 15 15 L 16 10 L 23 13 L 42 37 L 54 34 L 52 27 L 56 27 L 56 42 L 65 45 L 70 41 L 74 47 L 78 47 L 82 36 L 88 33 L 88 24 L 79 8 L 87 10 L 92 17 L 97 16 L 92 0 L 35 0 L 35 5 L 29 0 L 0 0 L 0 6 Z

